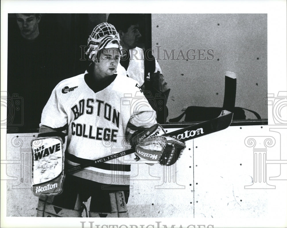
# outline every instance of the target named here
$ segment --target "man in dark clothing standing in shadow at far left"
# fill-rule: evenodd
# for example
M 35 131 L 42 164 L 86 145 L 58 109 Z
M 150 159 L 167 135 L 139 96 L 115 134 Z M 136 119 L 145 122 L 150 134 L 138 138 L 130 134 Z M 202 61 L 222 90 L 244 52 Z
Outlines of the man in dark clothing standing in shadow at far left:
M 48 29 L 46 24 L 39 28 L 42 14 L 14 16 L 15 26 L 8 27 L 7 93 L 12 104 L 17 97 L 22 104 L 7 109 L 7 130 L 14 127 L 18 132 L 37 132 L 43 100 L 48 101 L 51 90 L 65 78 L 65 60 L 54 28 Z M 45 17 L 51 24 L 51 18 Z

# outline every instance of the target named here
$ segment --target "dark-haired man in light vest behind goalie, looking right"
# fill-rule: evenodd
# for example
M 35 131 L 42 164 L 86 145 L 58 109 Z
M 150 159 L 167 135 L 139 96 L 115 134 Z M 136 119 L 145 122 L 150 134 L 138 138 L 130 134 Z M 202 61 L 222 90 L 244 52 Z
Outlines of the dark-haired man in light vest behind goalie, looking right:
M 166 107 L 170 89 L 167 86 L 158 61 L 151 51 L 137 47 L 141 38 L 139 31 L 140 14 L 109 14 L 107 22 L 119 32 L 123 56 L 117 71 L 135 79 L 152 108 L 156 111 L 157 122 L 166 123 Z

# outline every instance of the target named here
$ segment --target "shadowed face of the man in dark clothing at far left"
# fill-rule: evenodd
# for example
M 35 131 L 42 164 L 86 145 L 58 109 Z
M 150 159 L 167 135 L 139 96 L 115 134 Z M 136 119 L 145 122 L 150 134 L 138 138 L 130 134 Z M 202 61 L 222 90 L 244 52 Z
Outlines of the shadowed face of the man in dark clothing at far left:
M 19 26 L 22 37 L 26 39 L 35 39 L 39 35 L 38 24 L 41 17 L 35 14 L 24 15 L 16 14 L 17 24 Z

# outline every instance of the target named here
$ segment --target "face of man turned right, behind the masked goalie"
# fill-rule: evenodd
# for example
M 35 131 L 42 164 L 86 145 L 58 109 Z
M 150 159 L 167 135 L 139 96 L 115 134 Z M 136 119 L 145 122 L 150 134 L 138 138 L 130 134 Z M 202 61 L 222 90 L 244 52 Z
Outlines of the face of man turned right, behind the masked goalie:
M 140 37 L 139 25 L 131 25 L 127 32 L 122 32 L 121 45 L 125 49 L 133 49 L 137 46 Z

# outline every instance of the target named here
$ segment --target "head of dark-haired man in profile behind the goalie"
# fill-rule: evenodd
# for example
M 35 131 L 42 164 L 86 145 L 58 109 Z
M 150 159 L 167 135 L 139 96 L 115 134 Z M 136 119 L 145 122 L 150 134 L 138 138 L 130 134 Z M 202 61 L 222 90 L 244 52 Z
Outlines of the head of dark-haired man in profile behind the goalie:
M 140 14 L 109 14 L 107 22 L 115 26 L 121 39 L 123 49 L 129 50 L 137 46 L 141 34 L 139 32 Z

